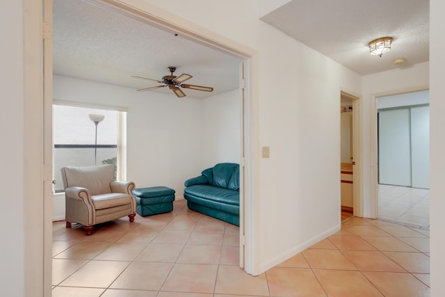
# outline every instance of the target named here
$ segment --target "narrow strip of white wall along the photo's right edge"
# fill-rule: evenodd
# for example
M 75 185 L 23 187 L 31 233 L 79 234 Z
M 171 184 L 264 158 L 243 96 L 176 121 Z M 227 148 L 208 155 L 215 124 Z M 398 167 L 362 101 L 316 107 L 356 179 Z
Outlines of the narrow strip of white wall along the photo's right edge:
M 445 296 L 445 1 L 430 0 L 431 297 Z

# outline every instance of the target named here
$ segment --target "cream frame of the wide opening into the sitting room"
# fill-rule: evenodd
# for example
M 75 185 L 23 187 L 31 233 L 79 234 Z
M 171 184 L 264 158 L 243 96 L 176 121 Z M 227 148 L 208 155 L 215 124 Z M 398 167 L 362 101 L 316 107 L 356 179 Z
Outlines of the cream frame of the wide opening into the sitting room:
M 130 17 L 138 17 L 145 22 L 154 26 L 160 26 L 166 31 L 175 31 L 181 35 L 201 44 L 219 49 L 227 54 L 232 54 L 244 60 L 248 67 L 245 67 L 245 109 L 243 110 L 245 128 L 244 128 L 244 144 L 245 157 L 244 163 L 244 209 L 240 214 L 240 220 L 244 223 L 245 236 L 240 238 L 240 244 L 245 245 L 245 262 L 244 270 L 252 275 L 259 275 L 259 231 L 257 230 L 257 214 L 258 204 L 253 199 L 255 193 L 258 191 L 257 172 L 254 168 L 257 167 L 259 152 L 254 143 L 258 143 L 258 131 L 254 127 L 254 122 L 258 120 L 258 53 L 254 49 L 241 45 L 234 40 L 229 40 L 222 35 L 218 35 L 201 26 L 197 26 L 186 19 L 182 19 L 166 10 L 162 10 L 152 4 L 137 1 L 137 0 L 88 0 L 92 3 L 106 6 L 108 9 L 118 10 L 124 12 Z M 32 140 L 35 145 L 29 145 L 28 151 L 36 151 L 45 156 L 51 146 L 44 145 L 44 139 L 51 135 L 51 127 L 45 126 L 44 123 L 52 122 L 51 113 L 44 112 L 44 88 L 52 90 L 52 80 L 43 81 L 42 65 L 44 64 L 44 54 L 42 50 L 42 30 L 44 27 L 43 10 L 49 9 L 48 6 L 52 1 L 49 0 L 24 0 L 24 42 L 29 49 L 38 49 L 31 53 L 32 61 L 29 57 L 25 57 L 25 76 L 30 79 L 25 80 L 25 104 L 29 104 L 29 111 L 25 111 L 25 115 L 29 115 L 29 125 L 26 127 L 33 127 L 26 131 L 26 140 Z M 174 20 L 174 21 L 173 21 Z M 47 25 L 47 24 L 45 24 Z M 49 22 L 49 29 L 51 30 L 52 21 Z M 29 31 L 26 31 L 29 30 Z M 28 54 L 29 54 L 28 53 Z M 52 54 L 52 52 L 51 52 Z M 47 59 L 47 58 L 46 58 Z M 31 79 L 32 77 L 32 79 Z M 36 79 L 40 77 L 41 79 Z M 40 94 L 40 95 L 38 95 Z M 47 93 L 47 95 L 51 94 Z M 38 107 L 38 108 L 36 108 Z M 34 139 L 36 138 L 36 139 Z M 38 138 L 38 139 L 37 139 Z M 35 141 L 34 141 L 35 140 Z M 35 150 L 41 147 L 41 150 Z M 49 152 L 52 154 L 52 152 Z M 51 245 L 52 245 L 52 225 L 51 222 L 51 203 L 52 193 L 44 191 L 42 184 L 46 179 L 51 181 L 52 168 L 48 163 L 44 163 L 44 157 L 40 156 L 33 161 L 33 170 L 26 172 L 30 176 L 31 182 L 36 184 L 27 189 L 29 197 L 33 198 L 34 203 L 26 204 L 25 216 L 28 216 L 29 222 L 33 223 L 33 227 L 26 229 L 25 236 L 28 241 L 25 251 L 25 258 L 27 259 L 25 274 L 26 274 L 26 296 L 50 296 L 51 295 Z M 32 178 L 31 178 L 32 177 Z M 36 194 L 34 190 L 40 194 Z M 33 192 L 33 195 L 31 195 Z M 41 209 L 41 211 L 35 211 Z M 39 222 L 36 224 L 35 222 Z M 31 223 L 27 224 L 31 225 Z M 40 248 L 39 248 L 40 247 Z M 36 273 L 37 271 L 37 273 Z

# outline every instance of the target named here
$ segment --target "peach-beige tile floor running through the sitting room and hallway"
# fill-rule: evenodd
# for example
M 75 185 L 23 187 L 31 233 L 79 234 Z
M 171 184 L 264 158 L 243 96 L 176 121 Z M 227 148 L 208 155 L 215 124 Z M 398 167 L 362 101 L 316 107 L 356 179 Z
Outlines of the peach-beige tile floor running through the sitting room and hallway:
M 351 218 L 257 277 L 238 267 L 238 227 L 190 211 L 53 224 L 52 296 L 429 296 L 429 231 Z

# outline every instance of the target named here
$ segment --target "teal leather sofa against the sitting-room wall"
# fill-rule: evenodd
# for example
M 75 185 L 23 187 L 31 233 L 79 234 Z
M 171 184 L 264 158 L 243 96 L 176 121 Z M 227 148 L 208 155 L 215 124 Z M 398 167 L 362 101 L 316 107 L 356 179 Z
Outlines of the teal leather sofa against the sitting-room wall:
M 239 166 L 218 163 L 184 183 L 189 209 L 239 226 Z

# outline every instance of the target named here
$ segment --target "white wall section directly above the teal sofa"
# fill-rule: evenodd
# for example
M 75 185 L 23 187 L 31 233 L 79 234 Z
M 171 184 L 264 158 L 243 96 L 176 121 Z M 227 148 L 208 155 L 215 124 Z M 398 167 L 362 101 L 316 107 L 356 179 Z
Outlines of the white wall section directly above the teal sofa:
M 232 90 L 202 101 L 202 170 L 240 161 L 241 95 Z M 198 172 L 199 173 L 199 172 Z

